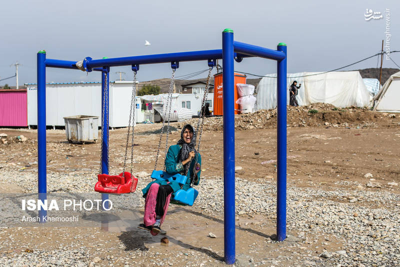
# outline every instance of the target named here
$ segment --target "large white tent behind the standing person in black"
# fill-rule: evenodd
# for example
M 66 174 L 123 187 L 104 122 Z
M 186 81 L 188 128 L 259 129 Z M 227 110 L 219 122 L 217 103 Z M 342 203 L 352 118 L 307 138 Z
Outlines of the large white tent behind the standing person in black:
M 371 106 L 372 94 L 365 87 L 358 71 L 299 72 L 287 74 L 286 99 L 289 104 L 289 86 L 301 83 L 296 97 L 299 105 L 323 102 L 337 107 Z M 257 85 L 256 109 L 276 107 L 276 73 L 267 74 Z

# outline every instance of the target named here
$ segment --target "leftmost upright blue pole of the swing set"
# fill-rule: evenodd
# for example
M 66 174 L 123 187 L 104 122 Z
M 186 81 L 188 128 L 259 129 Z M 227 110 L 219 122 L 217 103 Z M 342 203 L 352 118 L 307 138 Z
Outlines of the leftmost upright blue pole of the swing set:
M 46 51 L 37 52 L 37 187 L 40 200 L 46 199 Z M 39 220 L 44 222 L 46 210 L 39 210 Z

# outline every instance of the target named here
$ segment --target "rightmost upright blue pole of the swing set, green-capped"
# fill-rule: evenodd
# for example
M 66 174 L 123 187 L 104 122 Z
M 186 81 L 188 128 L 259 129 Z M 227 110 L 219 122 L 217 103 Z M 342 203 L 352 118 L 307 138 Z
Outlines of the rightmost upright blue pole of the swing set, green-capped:
M 277 61 L 277 188 L 276 188 L 276 238 L 286 238 L 286 44 L 277 49 L 285 58 Z

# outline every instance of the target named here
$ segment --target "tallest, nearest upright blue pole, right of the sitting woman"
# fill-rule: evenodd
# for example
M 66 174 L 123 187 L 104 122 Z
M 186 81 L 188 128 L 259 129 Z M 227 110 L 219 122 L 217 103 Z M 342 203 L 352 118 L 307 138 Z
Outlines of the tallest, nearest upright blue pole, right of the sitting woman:
M 222 32 L 224 256 L 235 261 L 233 30 Z

